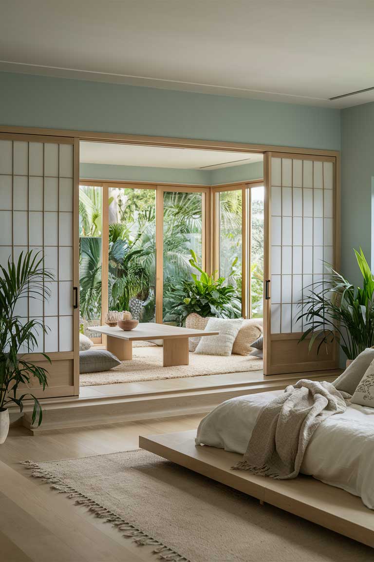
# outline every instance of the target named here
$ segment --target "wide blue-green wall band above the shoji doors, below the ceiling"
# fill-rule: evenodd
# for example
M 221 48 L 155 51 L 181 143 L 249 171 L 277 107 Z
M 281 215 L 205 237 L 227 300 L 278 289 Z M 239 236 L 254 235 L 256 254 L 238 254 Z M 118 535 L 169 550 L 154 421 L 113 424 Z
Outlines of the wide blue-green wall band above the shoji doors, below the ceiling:
M 0 124 L 340 148 L 338 110 L 11 72 Z

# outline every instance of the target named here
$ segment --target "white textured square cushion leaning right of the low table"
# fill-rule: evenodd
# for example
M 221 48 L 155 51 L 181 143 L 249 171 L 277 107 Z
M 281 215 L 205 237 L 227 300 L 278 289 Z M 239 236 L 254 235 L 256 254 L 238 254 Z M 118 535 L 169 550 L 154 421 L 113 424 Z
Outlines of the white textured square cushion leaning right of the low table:
M 234 341 L 243 319 L 209 318 L 204 332 L 219 332 L 218 336 L 203 336 L 195 353 L 205 355 L 231 355 Z

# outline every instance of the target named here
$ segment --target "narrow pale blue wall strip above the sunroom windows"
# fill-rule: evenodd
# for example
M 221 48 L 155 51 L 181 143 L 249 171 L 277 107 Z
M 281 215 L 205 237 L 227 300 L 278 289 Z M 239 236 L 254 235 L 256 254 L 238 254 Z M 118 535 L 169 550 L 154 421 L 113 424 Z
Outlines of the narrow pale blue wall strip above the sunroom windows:
M 263 177 L 262 162 L 220 170 L 185 170 L 150 166 L 118 166 L 113 164 L 89 164 L 79 166 L 80 177 L 87 179 L 122 180 L 130 182 L 160 182 L 176 184 L 216 185 L 242 182 Z

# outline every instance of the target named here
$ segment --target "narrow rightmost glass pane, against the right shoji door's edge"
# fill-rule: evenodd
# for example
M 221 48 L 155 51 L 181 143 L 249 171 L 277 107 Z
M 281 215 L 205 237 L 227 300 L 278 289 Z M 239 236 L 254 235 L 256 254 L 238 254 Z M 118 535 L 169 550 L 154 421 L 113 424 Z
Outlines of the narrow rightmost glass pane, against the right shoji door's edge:
M 264 187 L 251 188 L 251 317 L 262 318 L 264 297 Z

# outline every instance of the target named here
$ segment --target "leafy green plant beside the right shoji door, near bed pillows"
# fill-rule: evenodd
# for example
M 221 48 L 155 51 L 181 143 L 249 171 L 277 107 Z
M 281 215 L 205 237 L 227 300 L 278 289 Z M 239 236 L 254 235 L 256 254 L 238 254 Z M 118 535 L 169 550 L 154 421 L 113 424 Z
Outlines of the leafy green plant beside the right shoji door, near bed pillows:
M 299 341 L 311 334 L 309 348 L 334 340 L 339 342 L 348 359 L 355 359 L 367 347 L 374 345 L 374 279 L 362 249 L 354 250 L 363 284 L 355 287 L 332 265 L 325 264 L 328 277 L 312 283 L 308 296 L 300 304 L 304 331 Z

